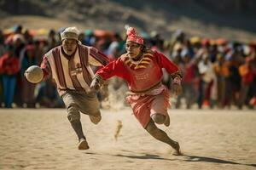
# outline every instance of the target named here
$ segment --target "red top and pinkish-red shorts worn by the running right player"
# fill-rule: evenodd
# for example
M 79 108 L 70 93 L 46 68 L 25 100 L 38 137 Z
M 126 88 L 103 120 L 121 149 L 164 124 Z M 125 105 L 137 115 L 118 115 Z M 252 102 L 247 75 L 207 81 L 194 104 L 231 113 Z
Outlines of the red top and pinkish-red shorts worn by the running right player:
M 134 92 L 126 99 L 138 122 L 145 128 L 153 114 L 165 116 L 168 114 L 169 91 L 163 85 L 157 86 L 163 77 L 162 68 L 165 68 L 169 74 L 178 71 L 177 66 L 165 55 L 148 50 L 143 54 L 143 59 L 137 63 L 123 54 L 119 59 L 97 71 L 96 76 L 102 77 L 103 80 L 113 76 L 125 79 L 131 92 Z

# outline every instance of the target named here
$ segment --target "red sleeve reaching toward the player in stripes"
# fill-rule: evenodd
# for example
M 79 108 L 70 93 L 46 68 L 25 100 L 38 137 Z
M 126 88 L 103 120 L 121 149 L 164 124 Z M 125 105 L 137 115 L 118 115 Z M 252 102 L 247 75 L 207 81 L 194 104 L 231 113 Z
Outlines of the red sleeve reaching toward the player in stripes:
M 124 78 L 125 68 L 121 59 L 114 60 L 99 71 L 96 71 L 96 77 L 101 80 L 107 80 L 110 77 L 117 76 Z

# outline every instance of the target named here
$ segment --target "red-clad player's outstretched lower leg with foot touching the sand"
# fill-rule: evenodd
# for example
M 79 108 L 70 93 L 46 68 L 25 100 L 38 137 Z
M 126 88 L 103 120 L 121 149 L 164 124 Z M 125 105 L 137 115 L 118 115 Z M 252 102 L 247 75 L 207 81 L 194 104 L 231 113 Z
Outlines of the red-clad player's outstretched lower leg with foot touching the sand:
M 170 139 L 168 137 L 168 135 L 164 131 L 162 131 L 160 128 L 156 127 L 152 119 L 150 119 L 150 121 L 148 122 L 146 130 L 155 139 L 158 139 L 161 142 L 164 142 L 164 143 L 169 144 L 170 146 L 172 146 L 172 148 L 174 150 L 176 150 L 177 155 L 180 155 L 179 144 L 176 141 Z

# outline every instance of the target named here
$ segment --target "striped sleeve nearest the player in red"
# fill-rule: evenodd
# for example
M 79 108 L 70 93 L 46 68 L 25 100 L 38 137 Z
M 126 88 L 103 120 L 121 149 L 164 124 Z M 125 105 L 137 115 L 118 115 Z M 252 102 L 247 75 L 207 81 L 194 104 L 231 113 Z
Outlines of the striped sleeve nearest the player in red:
M 109 63 L 109 59 L 105 54 L 103 54 L 96 48 L 93 48 L 93 47 L 90 48 L 90 54 L 89 54 L 90 65 L 101 66 L 101 65 L 108 65 L 108 63 Z

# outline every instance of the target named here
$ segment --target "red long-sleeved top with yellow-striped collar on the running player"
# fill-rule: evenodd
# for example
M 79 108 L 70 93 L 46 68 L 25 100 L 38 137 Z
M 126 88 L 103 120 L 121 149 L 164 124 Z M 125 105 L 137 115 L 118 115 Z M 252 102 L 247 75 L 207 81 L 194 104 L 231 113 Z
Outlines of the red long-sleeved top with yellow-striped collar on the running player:
M 178 71 L 177 65 L 174 65 L 165 55 L 148 50 L 143 54 L 141 62 L 137 64 L 123 54 L 119 59 L 97 71 L 96 75 L 103 80 L 113 76 L 121 77 L 128 83 L 131 92 L 142 92 L 161 82 L 162 68 L 165 68 L 169 74 Z

